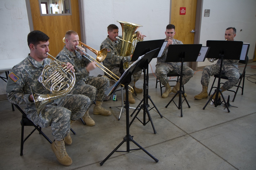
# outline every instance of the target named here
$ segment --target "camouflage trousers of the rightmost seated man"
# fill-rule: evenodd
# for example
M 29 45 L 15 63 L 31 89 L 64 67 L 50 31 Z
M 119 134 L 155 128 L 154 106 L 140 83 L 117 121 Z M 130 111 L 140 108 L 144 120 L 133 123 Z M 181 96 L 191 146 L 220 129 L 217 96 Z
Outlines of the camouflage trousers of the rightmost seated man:
M 206 66 L 202 72 L 201 84 L 203 86 L 208 86 L 210 81 L 210 76 L 219 74 L 219 71 L 220 71 L 220 66 L 217 64 Z M 228 77 L 228 81 L 226 81 L 222 86 L 223 90 L 228 90 L 239 82 L 240 74 L 239 74 L 239 69 L 237 68 L 225 69 L 225 67 L 222 67 L 222 74 L 225 74 Z

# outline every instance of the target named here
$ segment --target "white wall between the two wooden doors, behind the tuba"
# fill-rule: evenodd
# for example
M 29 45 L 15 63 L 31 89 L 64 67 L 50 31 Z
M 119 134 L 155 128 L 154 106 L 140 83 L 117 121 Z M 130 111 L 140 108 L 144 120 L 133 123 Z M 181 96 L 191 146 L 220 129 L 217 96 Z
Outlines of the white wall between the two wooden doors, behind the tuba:
M 122 28 L 119 21 L 132 22 L 142 25 L 137 29 L 147 37 L 144 41 L 158 40 L 165 38 L 166 25 L 169 24 L 169 0 L 109 0 L 109 1 L 87 1 L 83 0 L 85 10 L 86 43 L 88 46 L 99 50 L 101 43 L 108 35 L 107 27 L 115 24 L 119 27 L 119 35 L 122 35 Z M 92 52 L 88 53 L 96 57 Z M 155 72 L 156 59 L 151 61 L 153 72 Z M 149 73 L 152 73 L 151 68 Z M 103 74 L 97 68 L 91 75 Z

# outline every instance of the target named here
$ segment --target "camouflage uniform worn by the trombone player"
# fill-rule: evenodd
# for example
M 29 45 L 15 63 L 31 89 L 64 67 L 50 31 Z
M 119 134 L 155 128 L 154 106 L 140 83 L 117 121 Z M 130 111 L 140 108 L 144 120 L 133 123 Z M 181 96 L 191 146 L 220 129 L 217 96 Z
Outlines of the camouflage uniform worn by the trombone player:
M 64 46 L 57 56 L 58 60 L 71 63 L 76 70 L 76 85 L 70 94 L 86 95 L 90 97 L 91 104 L 95 98 L 97 101 L 102 102 L 106 97 L 105 91 L 109 89 L 109 80 L 103 77 L 89 76 L 86 66 L 91 61 L 86 57 L 82 57 L 76 50 L 74 53 L 75 55 Z

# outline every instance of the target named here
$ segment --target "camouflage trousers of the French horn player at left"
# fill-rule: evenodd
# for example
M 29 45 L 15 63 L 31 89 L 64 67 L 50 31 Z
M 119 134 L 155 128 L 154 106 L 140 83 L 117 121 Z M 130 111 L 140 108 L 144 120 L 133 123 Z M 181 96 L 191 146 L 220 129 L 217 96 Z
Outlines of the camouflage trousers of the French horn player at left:
M 61 140 L 69 133 L 70 119 L 80 119 L 89 107 L 88 102 L 84 101 L 89 100 L 90 99 L 84 95 L 68 94 L 44 106 L 39 115 L 35 108 L 34 111 L 27 113 L 27 117 L 40 127 L 46 128 L 51 126 L 54 138 Z

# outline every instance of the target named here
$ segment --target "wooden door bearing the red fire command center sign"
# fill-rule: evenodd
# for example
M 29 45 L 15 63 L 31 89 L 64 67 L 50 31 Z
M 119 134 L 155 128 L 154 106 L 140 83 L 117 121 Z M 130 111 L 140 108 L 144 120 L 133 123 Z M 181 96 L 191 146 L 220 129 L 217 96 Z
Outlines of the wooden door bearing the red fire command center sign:
M 197 0 L 172 0 L 171 21 L 175 25 L 174 38 L 183 44 L 194 44 Z M 185 15 L 180 15 L 180 7 L 186 7 Z

